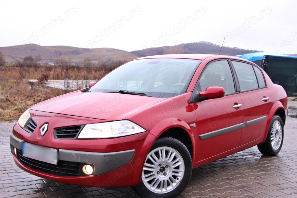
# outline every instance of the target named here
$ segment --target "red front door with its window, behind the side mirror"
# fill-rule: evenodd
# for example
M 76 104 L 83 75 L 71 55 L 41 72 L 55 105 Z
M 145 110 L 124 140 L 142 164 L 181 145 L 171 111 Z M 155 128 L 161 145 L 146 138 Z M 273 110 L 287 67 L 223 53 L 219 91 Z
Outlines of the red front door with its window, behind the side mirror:
M 206 65 L 199 82 L 202 91 L 207 87 L 223 87 L 225 96 L 193 104 L 198 134 L 197 161 L 238 147 L 243 115 L 241 98 L 236 92 L 228 60 L 217 60 Z

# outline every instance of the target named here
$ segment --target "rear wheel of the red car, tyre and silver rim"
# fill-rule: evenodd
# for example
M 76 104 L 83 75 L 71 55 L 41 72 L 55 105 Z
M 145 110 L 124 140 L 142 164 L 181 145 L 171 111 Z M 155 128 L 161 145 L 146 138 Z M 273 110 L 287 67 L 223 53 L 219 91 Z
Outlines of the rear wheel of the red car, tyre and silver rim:
M 258 149 L 263 155 L 277 155 L 282 148 L 284 141 L 284 124 L 278 115 L 271 120 L 266 140 L 258 144 Z

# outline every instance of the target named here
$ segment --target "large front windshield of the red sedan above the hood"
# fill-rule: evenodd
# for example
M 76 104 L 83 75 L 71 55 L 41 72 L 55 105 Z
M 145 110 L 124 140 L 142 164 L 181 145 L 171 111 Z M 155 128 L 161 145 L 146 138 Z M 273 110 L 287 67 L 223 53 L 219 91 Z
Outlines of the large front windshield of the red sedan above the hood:
M 108 73 L 90 91 L 122 91 L 121 93 L 140 93 L 157 98 L 174 97 L 186 92 L 201 62 L 166 58 L 133 60 Z

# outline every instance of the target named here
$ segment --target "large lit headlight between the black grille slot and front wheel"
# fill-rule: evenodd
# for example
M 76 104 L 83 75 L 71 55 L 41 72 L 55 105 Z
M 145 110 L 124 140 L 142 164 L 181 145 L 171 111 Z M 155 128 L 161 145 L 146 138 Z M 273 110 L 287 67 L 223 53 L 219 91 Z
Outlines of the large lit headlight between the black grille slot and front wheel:
M 129 120 L 87 124 L 78 138 L 113 138 L 146 131 Z

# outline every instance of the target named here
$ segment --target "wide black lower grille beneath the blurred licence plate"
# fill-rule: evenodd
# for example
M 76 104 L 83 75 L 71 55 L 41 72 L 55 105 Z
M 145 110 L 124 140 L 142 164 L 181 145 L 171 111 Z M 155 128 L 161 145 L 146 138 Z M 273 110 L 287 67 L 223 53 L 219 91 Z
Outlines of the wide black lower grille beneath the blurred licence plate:
M 59 160 L 57 165 L 24 157 L 20 150 L 17 150 L 18 160 L 25 166 L 56 176 L 79 176 L 80 163 Z

